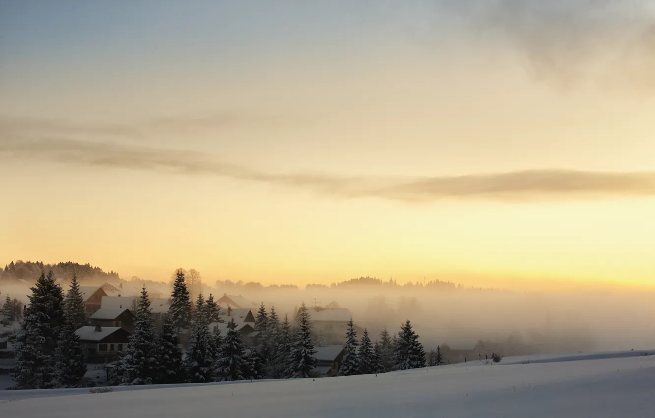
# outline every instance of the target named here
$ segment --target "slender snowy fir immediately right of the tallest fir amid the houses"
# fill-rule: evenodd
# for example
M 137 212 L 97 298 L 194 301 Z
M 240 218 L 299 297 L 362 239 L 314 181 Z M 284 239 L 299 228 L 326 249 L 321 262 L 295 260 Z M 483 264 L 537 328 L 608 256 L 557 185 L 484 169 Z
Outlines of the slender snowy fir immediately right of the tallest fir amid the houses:
M 214 334 L 209 330 L 207 311 L 204 309 L 202 293 L 196 299 L 193 331 L 187 346 L 186 370 L 191 383 L 210 382 L 213 379 Z

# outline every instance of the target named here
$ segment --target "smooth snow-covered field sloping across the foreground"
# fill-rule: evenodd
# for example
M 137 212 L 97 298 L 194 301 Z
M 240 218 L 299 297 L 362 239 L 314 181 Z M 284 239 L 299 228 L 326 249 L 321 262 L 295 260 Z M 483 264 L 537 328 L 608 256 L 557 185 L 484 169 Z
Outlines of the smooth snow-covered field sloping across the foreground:
M 384 375 L 0 392 L 0 417 L 653 417 L 655 356 L 505 358 Z M 651 352 L 652 353 L 652 352 Z

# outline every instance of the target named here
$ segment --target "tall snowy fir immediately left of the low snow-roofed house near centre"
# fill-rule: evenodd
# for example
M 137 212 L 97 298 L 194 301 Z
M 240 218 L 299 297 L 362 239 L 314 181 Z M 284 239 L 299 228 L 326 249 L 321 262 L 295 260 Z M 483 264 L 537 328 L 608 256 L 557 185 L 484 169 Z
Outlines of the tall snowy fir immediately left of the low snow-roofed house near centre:
M 312 375 L 314 364 L 317 362 L 316 357 L 314 357 L 316 350 L 314 350 L 314 344 L 312 344 L 311 317 L 305 303 L 298 309 L 296 321 L 297 330 L 291 346 L 289 366 L 290 371 L 293 372 L 291 377 L 305 379 Z

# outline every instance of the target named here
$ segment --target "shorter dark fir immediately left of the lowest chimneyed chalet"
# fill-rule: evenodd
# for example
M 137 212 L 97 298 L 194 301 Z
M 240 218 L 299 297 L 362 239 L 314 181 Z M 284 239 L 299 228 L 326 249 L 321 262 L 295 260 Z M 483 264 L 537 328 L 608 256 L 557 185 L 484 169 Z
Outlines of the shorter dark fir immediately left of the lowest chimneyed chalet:
M 67 317 L 54 351 L 54 378 L 58 387 L 79 387 L 86 373 L 84 349 L 73 318 Z

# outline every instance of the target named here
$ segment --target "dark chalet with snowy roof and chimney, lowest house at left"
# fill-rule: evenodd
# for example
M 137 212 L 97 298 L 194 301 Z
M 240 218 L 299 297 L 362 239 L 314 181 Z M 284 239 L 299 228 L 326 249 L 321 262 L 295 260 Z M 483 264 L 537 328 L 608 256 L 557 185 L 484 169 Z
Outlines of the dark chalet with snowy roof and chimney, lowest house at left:
M 130 335 L 119 326 L 83 326 L 75 331 L 86 352 L 86 362 L 103 363 L 115 360 L 126 349 Z

